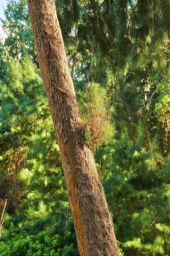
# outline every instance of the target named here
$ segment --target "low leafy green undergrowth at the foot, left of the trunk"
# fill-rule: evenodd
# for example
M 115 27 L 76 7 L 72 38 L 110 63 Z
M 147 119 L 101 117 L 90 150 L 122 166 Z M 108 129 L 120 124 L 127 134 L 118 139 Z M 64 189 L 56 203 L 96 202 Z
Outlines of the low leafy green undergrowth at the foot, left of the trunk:
M 64 210 L 64 209 L 63 209 Z M 76 235 L 70 212 L 48 214 L 30 219 L 30 224 L 17 223 L 16 217 L 4 214 L 0 241 L 1 256 L 78 256 Z M 21 225 L 22 224 L 22 225 Z

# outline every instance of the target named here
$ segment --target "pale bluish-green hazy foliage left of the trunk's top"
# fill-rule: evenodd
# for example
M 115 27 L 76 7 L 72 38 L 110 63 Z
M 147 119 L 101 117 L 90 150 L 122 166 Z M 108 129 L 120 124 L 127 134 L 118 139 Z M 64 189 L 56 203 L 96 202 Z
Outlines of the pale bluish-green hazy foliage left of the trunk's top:
M 26 0 L 7 2 L 4 10 L 6 20 L 2 23 L 6 37 L 4 49 L 15 59 L 22 59 L 27 54 L 37 64 L 33 32 Z

